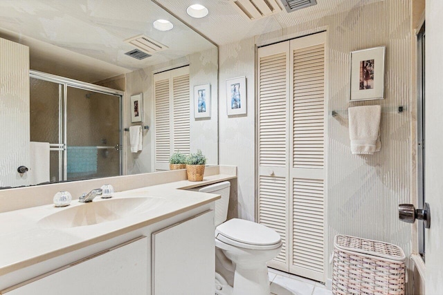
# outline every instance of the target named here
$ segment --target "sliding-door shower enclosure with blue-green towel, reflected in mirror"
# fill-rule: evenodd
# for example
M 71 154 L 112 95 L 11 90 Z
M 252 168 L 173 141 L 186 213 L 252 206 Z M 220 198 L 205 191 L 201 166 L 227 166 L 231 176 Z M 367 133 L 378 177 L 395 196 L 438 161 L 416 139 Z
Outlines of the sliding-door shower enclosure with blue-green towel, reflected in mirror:
M 30 141 L 50 144 L 50 182 L 121 175 L 122 95 L 30 71 Z

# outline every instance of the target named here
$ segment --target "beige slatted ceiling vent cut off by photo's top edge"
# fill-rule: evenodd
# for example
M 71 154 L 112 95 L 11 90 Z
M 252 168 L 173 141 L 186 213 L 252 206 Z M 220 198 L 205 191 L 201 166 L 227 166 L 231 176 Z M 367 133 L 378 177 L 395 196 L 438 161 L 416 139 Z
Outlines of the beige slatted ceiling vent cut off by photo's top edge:
M 278 0 L 231 0 L 242 15 L 255 20 L 282 11 Z

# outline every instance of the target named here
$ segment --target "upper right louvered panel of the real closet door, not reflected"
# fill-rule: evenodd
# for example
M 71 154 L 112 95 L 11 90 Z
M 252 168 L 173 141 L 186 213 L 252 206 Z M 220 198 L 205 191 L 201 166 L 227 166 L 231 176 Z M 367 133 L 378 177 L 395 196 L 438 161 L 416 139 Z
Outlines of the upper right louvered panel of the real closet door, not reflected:
M 293 167 L 325 162 L 325 46 L 293 50 Z

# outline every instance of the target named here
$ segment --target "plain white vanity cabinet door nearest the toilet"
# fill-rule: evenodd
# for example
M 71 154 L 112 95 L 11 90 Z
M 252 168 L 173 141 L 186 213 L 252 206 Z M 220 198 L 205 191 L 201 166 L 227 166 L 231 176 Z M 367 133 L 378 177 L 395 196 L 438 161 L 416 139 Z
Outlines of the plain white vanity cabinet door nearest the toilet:
M 214 211 L 152 234 L 152 295 L 215 293 Z

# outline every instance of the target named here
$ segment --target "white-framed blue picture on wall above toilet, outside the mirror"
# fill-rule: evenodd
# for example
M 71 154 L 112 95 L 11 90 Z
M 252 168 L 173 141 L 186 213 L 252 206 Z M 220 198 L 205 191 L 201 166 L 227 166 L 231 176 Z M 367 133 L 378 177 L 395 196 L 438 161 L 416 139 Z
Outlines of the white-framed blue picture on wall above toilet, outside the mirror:
M 246 77 L 226 80 L 226 108 L 228 116 L 246 115 L 247 109 Z

